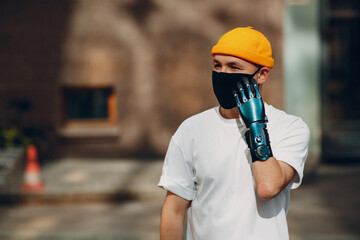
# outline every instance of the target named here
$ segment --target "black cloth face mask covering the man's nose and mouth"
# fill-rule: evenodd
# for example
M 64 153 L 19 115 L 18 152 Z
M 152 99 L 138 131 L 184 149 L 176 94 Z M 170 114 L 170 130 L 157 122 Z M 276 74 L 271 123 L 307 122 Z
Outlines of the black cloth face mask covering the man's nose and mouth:
M 212 72 L 213 89 L 216 98 L 219 101 L 221 107 L 225 109 L 231 109 L 236 107 L 236 101 L 234 98 L 233 90 L 237 89 L 237 83 L 240 82 L 244 85 L 244 78 L 249 82 L 254 75 L 260 70 L 256 70 L 253 74 L 245 73 L 224 73 L 224 72 Z

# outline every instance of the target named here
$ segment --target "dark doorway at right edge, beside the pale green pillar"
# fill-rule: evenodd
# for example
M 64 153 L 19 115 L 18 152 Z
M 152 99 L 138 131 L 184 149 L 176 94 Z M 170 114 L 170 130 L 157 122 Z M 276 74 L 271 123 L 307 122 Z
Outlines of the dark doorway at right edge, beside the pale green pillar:
M 322 1 L 322 153 L 360 159 L 360 1 Z

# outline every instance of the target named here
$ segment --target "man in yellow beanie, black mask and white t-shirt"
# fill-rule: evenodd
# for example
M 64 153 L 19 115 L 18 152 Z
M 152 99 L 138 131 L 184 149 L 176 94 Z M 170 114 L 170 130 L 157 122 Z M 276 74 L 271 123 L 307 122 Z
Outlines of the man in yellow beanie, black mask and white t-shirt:
M 263 34 L 233 29 L 211 54 L 220 106 L 185 120 L 170 141 L 160 238 L 289 239 L 289 192 L 303 177 L 309 130 L 261 99 L 274 65 Z

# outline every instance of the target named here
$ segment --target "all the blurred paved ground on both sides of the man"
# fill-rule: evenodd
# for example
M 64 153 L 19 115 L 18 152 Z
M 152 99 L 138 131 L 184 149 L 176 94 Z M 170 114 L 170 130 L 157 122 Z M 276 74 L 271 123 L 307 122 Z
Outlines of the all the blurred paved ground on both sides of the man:
M 0 206 L 0 239 L 159 239 L 161 165 L 134 159 L 54 162 L 42 169 L 43 194 Z M 291 239 L 360 239 L 359 189 L 360 165 L 320 166 L 313 181 L 292 192 Z

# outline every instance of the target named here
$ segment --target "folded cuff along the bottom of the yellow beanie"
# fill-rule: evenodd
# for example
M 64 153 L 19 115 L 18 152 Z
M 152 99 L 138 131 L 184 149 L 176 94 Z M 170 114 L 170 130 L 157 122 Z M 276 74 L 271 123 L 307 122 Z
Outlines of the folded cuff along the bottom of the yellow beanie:
M 253 52 L 250 52 L 246 49 L 241 48 L 234 48 L 230 46 L 217 46 L 215 45 L 211 50 L 211 55 L 214 56 L 215 54 L 226 54 L 235 57 L 242 58 L 246 61 L 268 67 L 273 68 L 274 66 L 274 59 L 271 57 L 262 56 Z

